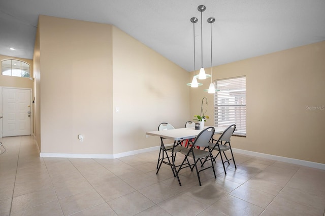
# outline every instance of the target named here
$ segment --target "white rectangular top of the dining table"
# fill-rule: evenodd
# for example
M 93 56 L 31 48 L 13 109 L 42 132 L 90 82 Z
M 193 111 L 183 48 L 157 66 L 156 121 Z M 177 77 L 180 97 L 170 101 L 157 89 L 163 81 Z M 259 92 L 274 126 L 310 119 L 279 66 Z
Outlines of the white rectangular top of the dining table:
M 207 128 L 209 126 L 205 126 Z M 220 134 L 225 130 L 226 127 L 214 127 L 214 134 Z M 163 131 L 149 131 L 146 132 L 146 135 L 164 137 L 165 139 L 170 140 L 186 140 L 191 138 L 196 138 L 202 130 L 196 130 L 194 127 L 189 128 L 176 128 L 176 129 L 167 129 Z

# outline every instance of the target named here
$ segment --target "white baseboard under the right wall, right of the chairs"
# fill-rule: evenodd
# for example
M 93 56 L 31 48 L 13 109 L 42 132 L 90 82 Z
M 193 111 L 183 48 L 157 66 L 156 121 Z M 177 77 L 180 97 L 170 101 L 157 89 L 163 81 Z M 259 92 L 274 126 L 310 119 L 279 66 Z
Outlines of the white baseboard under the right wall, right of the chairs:
M 262 157 L 262 158 L 266 158 L 266 159 L 277 160 L 277 161 L 281 161 L 281 162 L 293 163 L 293 164 L 297 164 L 297 165 L 308 166 L 308 167 L 312 167 L 312 168 L 325 170 L 324 163 L 316 163 L 316 162 L 311 162 L 311 161 L 307 161 L 307 160 L 281 157 L 281 156 L 277 156 L 277 155 L 264 154 L 264 153 L 247 151 L 247 150 L 242 150 L 242 149 L 235 149 L 235 148 L 232 148 L 232 150 L 233 150 L 233 152 L 239 153 L 239 154 L 245 154 L 245 155 L 250 155 L 250 156 L 254 156 L 254 157 Z

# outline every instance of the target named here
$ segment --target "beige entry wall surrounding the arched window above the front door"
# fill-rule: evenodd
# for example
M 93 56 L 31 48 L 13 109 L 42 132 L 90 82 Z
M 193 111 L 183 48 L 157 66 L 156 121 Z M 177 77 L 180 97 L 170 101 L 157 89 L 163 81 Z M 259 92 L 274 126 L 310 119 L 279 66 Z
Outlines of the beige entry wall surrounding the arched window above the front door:
M 33 77 L 33 72 L 32 72 L 33 64 L 31 59 L 23 59 L 23 58 L 0 55 L 0 62 L 5 59 L 17 59 L 28 63 L 30 65 L 30 77 Z M 26 77 L 5 76 L 0 74 L 0 86 L 32 89 L 34 87 L 34 83 L 32 80 Z

